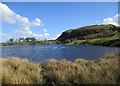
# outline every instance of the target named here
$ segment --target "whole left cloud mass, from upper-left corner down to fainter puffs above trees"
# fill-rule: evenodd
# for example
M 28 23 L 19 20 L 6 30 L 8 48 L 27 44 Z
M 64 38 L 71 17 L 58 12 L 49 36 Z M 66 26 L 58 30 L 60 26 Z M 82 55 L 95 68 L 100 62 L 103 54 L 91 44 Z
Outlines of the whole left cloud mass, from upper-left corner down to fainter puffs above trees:
M 16 29 L 15 33 L 21 36 L 35 36 L 42 37 L 41 34 L 35 34 L 32 32 L 30 27 L 41 26 L 42 22 L 39 18 L 30 22 L 27 17 L 20 16 L 19 14 L 12 11 L 7 5 L 0 2 L 0 20 L 9 24 L 18 24 L 20 28 Z M 47 34 L 46 34 L 47 35 Z

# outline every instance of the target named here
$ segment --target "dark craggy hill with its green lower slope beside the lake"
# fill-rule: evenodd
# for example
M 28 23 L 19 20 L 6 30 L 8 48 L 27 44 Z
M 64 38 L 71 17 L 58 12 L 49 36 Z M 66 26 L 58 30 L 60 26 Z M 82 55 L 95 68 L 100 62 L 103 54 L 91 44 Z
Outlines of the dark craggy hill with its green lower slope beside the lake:
M 57 43 L 79 45 L 103 45 L 120 47 L 120 27 L 112 24 L 91 25 L 70 29 L 56 39 Z

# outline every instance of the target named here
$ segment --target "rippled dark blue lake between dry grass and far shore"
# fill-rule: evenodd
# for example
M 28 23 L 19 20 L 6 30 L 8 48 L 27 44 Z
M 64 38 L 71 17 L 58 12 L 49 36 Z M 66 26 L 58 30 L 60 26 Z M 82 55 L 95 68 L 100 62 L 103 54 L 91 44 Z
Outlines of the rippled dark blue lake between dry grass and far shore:
M 2 46 L 0 57 L 20 57 L 33 62 L 44 62 L 51 58 L 74 61 L 78 58 L 98 59 L 105 54 L 117 53 L 119 48 L 78 45 L 18 45 Z

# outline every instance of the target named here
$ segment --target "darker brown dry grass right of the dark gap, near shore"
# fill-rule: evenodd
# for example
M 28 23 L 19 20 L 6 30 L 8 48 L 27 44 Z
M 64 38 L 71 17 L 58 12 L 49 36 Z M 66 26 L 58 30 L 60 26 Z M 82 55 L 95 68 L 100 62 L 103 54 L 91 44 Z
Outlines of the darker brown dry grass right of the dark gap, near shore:
M 120 82 L 117 55 L 95 61 L 51 60 L 41 65 L 45 84 L 116 84 Z

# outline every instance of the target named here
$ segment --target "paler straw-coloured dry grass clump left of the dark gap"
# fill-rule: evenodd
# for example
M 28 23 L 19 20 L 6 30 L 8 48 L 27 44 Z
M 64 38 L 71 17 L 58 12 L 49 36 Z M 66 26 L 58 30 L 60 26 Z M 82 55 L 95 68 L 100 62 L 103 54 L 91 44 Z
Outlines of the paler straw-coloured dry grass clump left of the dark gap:
M 4 84 L 39 84 L 42 82 L 38 64 L 19 58 L 2 59 L 0 62 L 2 63 L 2 83 Z

